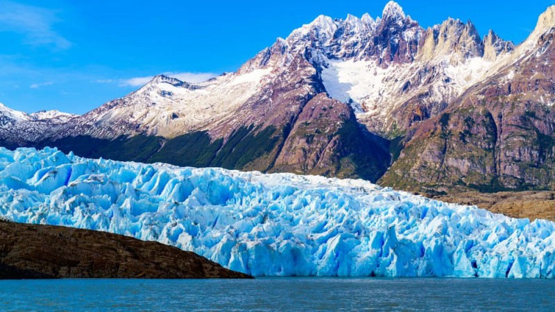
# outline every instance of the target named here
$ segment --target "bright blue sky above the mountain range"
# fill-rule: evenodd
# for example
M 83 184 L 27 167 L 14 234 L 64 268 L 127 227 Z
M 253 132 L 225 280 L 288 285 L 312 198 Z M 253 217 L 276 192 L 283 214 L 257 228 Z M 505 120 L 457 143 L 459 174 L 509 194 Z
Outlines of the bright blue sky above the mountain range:
M 382 15 L 366 1 L 0 0 L 0 103 L 83 114 L 149 76 L 194 81 L 234 71 L 318 15 Z M 554 0 L 399 0 L 424 27 L 472 20 L 520 43 Z M 502 4 L 501 4 L 502 3 Z

